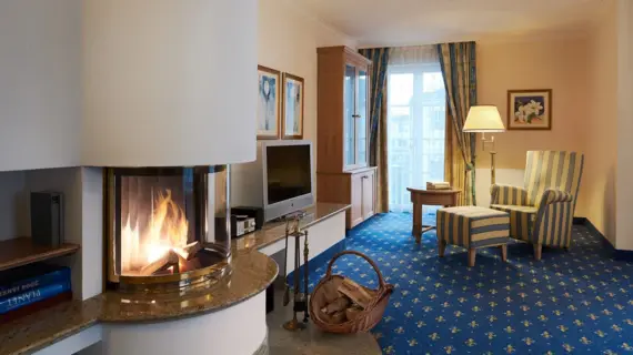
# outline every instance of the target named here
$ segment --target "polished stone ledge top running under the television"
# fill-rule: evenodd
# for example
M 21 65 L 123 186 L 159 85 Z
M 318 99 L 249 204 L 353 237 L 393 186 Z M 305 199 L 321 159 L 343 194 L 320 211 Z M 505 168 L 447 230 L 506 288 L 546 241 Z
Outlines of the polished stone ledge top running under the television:
M 312 207 L 305 210 L 307 215 L 299 223 L 300 229 L 308 229 L 323 220 L 326 220 L 339 212 L 350 209 L 349 204 L 341 203 L 316 203 Z M 259 250 L 271 245 L 285 236 L 285 223 L 268 223 L 260 231 L 247 234 L 242 237 L 233 240 L 233 252 L 241 250 Z

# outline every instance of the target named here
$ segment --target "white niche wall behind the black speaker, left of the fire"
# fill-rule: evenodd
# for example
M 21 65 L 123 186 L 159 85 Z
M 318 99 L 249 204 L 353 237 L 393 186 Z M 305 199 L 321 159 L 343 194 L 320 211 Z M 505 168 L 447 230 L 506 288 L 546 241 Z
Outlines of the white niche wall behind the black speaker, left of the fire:
M 72 291 L 79 300 L 102 291 L 102 170 L 98 168 L 0 172 L 0 241 L 31 235 L 31 192 L 63 193 L 64 241 L 81 248 L 54 262 L 72 268 Z

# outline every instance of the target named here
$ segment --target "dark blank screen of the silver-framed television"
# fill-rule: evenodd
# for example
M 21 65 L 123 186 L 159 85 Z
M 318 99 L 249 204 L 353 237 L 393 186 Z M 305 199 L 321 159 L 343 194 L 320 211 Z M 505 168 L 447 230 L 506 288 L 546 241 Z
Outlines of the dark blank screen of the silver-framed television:
M 268 204 L 312 192 L 310 145 L 267 146 Z

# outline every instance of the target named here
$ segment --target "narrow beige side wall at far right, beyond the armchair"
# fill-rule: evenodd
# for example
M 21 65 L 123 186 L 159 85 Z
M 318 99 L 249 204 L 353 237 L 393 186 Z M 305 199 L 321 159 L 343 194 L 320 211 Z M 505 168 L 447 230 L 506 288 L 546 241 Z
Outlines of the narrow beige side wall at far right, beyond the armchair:
M 596 23 L 589 51 L 582 214 L 615 244 L 615 176 L 617 156 L 617 24 L 615 8 Z

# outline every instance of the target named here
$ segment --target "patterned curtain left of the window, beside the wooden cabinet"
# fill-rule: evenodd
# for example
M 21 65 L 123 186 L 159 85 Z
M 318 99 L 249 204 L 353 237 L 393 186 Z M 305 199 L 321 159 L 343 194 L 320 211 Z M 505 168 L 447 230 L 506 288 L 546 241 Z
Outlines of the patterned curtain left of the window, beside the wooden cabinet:
M 370 92 L 370 165 L 378 166 L 378 212 L 389 211 L 389 181 L 386 162 L 386 64 L 388 48 L 361 49 L 372 61 Z

